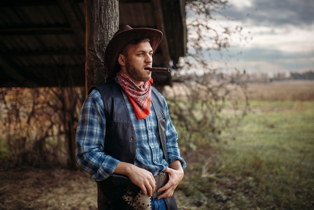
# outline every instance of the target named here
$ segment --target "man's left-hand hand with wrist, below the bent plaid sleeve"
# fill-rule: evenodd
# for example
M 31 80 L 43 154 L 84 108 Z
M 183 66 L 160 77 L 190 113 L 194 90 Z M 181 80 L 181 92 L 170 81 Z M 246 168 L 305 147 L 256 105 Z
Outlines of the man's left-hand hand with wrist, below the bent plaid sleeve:
M 120 161 L 114 173 L 128 176 L 131 182 L 137 185 L 144 194 L 148 194 L 149 197 L 156 188 L 156 181 L 152 173 L 133 164 Z

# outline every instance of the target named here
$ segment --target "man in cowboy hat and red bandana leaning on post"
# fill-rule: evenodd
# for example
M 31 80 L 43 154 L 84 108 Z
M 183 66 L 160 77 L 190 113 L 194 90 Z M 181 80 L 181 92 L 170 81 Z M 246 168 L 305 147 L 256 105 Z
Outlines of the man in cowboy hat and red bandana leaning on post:
M 77 163 L 97 182 L 106 209 L 177 209 L 184 176 L 165 98 L 151 86 L 163 33 L 121 27 L 105 50 L 109 80 L 89 91 L 77 126 Z

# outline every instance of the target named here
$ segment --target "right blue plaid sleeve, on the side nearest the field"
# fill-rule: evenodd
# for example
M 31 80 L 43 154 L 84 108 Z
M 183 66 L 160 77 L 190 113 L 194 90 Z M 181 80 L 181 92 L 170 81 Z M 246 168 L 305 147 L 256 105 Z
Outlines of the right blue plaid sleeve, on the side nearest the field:
M 182 168 L 185 169 L 187 167 L 185 160 L 180 155 L 180 149 L 178 145 L 178 133 L 170 119 L 168 105 L 166 99 L 163 97 L 164 100 L 164 107 L 165 107 L 165 115 L 166 115 L 166 144 L 167 144 L 167 153 L 168 153 L 168 162 L 172 163 L 176 160 L 181 162 Z

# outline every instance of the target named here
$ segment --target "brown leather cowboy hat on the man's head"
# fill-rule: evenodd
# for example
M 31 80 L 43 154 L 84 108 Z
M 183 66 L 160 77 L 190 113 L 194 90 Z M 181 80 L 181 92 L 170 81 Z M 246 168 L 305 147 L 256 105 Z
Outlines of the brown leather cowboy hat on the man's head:
M 118 71 L 118 54 L 127 44 L 138 38 L 148 38 L 154 53 L 163 39 L 163 32 L 157 29 L 122 26 L 113 35 L 105 50 L 105 69 L 110 79 L 114 78 Z

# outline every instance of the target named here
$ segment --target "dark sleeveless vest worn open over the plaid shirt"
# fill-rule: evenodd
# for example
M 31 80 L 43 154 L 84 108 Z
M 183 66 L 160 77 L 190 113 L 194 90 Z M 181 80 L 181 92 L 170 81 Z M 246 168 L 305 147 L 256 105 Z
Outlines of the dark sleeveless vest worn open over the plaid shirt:
M 104 104 L 106 118 L 104 152 L 120 161 L 133 164 L 135 160 L 136 136 L 122 94 L 124 90 L 114 80 L 91 87 L 89 93 L 93 89 L 97 89 L 100 92 Z M 168 161 L 165 136 L 165 107 L 160 93 L 154 87 L 151 89 L 151 102 L 158 119 L 159 136 L 164 157 Z

